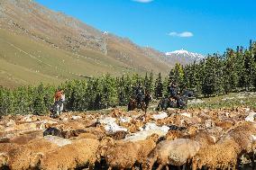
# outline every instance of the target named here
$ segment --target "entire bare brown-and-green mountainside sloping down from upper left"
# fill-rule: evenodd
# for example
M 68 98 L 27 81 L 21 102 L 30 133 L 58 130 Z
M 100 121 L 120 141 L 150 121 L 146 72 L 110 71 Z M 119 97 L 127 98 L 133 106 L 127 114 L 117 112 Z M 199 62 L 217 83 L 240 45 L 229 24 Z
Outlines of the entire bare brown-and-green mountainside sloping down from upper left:
M 0 68 L 0 85 L 10 82 L 11 86 L 38 84 L 38 78 L 30 77 L 39 73 L 50 77 L 43 82 L 57 84 L 105 73 L 165 74 L 176 62 L 158 50 L 99 31 L 31 0 L 0 0 L 0 59 L 16 67 Z M 21 69 L 30 76 L 17 76 L 15 70 Z

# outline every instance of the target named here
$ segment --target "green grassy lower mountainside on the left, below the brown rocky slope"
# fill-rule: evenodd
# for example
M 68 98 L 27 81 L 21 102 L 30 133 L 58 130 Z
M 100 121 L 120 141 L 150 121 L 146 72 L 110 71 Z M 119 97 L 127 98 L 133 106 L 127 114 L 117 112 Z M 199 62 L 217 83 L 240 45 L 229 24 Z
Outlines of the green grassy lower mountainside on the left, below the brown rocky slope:
M 87 54 L 86 56 L 82 54 Z M 131 68 L 101 53 L 83 50 L 78 54 L 52 48 L 41 41 L 0 29 L 0 85 L 59 83 L 106 72 L 118 75 Z

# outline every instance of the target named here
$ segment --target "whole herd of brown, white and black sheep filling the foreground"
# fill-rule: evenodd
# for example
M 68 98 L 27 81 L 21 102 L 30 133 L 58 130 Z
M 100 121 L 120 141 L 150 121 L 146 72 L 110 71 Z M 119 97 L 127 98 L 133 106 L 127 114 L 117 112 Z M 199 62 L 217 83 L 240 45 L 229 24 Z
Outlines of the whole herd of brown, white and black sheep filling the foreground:
M 0 120 L 0 169 L 254 168 L 249 108 L 16 115 Z

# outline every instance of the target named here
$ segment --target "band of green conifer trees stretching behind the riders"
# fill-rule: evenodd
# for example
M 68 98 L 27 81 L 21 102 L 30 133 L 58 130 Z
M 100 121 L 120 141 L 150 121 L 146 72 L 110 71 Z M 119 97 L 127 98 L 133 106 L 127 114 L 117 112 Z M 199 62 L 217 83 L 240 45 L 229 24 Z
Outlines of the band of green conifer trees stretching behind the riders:
M 189 89 L 204 96 L 250 91 L 256 87 L 256 43 L 250 41 L 248 49 L 226 49 L 223 55 L 208 55 L 186 66 L 176 64 L 168 76 L 159 73 L 154 78 L 153 75 L 152 72 L 145 76 L 105 75 L 71 80 L 58 87 L 41 84 L 8 89 L 0 86 L 0 115 L 45 114 L 59 88 L 66 94 L 66 110 L 74 112 L 127 105 L 137 85 L 142 85 L 157 99 L 168 95 L 172 82 L 176 82 L 181 91 Z

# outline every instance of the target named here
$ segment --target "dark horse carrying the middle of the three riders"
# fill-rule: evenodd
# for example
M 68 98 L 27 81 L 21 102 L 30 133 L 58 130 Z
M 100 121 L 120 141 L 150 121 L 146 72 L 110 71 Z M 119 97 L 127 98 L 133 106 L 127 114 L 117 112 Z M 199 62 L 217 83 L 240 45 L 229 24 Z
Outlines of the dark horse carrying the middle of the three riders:
M 149 104 L 152 100 L 151 94 L 146 93 L 141 100 L 137 100 L 134 97 L 130 98 L 128 103 L 128 111 L 133 111 L 135 109 L 142 109 L 143 112 L 147 112 Z

